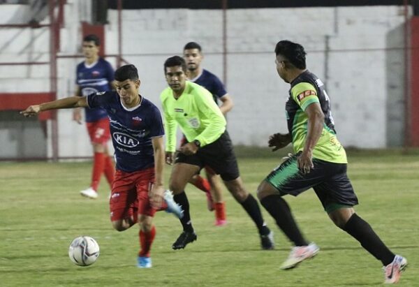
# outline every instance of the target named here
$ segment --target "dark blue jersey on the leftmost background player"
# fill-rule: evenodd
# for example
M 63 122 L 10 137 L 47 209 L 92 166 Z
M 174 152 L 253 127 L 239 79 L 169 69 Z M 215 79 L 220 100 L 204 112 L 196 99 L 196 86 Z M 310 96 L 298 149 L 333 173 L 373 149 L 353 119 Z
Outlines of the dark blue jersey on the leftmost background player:
M 77 66 L 76 84 L 80 87 L 81 95 L 97 93 L 98 91 L 110 91 L 110 84 L 114 80 L 114 71 L 109 62 L 99 58 L 92 65 L 82 61 Z M 107 117 L 106 111 L 102 108 L 85 109 L 86 122 L 96 122 Z

